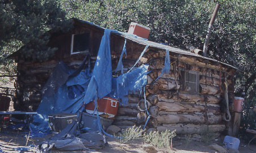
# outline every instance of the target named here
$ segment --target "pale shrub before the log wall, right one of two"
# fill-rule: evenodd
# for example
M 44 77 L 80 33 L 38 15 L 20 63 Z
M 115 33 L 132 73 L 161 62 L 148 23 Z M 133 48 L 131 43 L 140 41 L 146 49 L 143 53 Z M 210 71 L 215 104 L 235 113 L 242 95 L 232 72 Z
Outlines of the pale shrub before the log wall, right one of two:
M 149 134 L 145 134 L 143 139 L 146 143 L 156 146 L 158 148 L 170 148 L 170 139 L 176 136 L 176 130 L 170 132 L 170 130 L 165 130 L 165 132 L 153 132 L 150 131 Z

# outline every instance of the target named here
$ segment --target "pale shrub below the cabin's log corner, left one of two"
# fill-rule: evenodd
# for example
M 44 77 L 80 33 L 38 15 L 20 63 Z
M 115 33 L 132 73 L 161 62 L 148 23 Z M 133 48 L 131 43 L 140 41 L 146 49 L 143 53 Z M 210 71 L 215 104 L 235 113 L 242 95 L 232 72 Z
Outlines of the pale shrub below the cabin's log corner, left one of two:
M 131 128 L 127 128 L 121 132 L 121 143 L 127 143 L 128 141 L 138 139 L 142 136 L 142 133 L 144 132 L 143 129 L 140 127 L 136 127 L 133 125 Z

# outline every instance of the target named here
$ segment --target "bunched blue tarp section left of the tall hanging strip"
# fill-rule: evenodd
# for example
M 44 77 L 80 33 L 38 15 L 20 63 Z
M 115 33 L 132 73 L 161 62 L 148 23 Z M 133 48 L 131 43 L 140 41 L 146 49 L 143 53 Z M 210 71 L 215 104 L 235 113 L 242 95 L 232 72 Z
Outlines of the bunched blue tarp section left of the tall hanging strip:
M 77 76 L 72 76 L 75 73 L 75 69 L 69 68 L 63 62 L 60 62 L 56 68 L 54 69 L 53 75 L 49 78 L 48 82 L 53 82 L 52 86 L 56 85 L 54 82 L 57 82 L 60 78 L 58 78 L 58 74 L 66 74 L 66 81 L 65 84 L 60 85 L 58 87 L 57 92 L 54 93 L 56 87 L 50 87 L 47 90 L 52 90 L 53 93 L 45 94 L 44 97 L 41 99 L 41 103 L 37 108 L 37 115 L 33 116 L 33 123 L 30 124 L 30 128 L 33 133 L 37 132 L 49 132 L 49 123 L 48 123 L 48 115 L 53 113 L 77 113 L 77 111 L 82 107 L 83 100 L 82 98 L 85 95 L 85 91 L 87 90 L 87 86 L 89 85 L 89 81 L 91 76 L 87 73 L 88 70 L 85 72 L 78 73 Z M 68 73 L 69 72 L 69 73 Z M 73 73 L 70 73 L 73 72 Z M 72 77 L 70 77 L 72 76 Z M 79 85 L 83 88 L 83 91 L 80 95 L 76 95 L 76 97 L 70 99 L 69 97 L 69 86 Z M 51 85 L 49 85 L 51 86 Z M 57 85 L 56 85 L 57 86 Z M 47 91 L 46 90 L 46 91 Z

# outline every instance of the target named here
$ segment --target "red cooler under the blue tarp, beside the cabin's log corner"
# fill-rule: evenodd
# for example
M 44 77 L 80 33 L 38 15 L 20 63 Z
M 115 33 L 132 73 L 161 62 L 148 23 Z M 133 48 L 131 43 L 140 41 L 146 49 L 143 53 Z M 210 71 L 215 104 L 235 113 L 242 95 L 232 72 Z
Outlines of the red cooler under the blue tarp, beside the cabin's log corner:
M 114 117 L 117 113 L 117 108 L 119 106 L 119 102 L 117 99 L 110 97 L 103 97 L 102 99 L 97 100 L 98 103 L 98 112 L 99 114 L 106 113 L 110 117 Z M 93 113 L 95 104 L 94 102 L 87 103 L 85 106 L 85 110 L 88 113 Z

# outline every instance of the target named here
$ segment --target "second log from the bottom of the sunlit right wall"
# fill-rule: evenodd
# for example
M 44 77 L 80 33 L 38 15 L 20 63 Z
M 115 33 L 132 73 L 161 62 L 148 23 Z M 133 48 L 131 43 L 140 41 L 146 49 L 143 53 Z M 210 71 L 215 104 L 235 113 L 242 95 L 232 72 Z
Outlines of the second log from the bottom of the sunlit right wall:
M 220 124 L 222 120 L 221 115 L 208 115 L 208 124 Z M 173 124 L 173 123 L 194 123 L 202 124 L 206 123 L 205 115 L 200 114 L 186 114 L 186 113 L 177 113 L 177 115 L 166 114 L 160 115 L 157 117 L 158 124 Z

